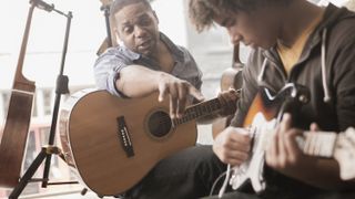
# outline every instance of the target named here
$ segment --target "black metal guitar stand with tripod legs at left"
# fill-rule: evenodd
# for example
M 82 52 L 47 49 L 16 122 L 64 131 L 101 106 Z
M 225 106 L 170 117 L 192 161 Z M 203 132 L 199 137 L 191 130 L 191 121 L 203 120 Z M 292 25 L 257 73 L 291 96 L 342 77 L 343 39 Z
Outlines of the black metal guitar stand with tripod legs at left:
M 49 182 L 49 169 L 51 165 L 51 158 L 52 155 L 58 155 L 60 158 L 64 159 L 64 155 L 61 153 L 61 149 L 57 146 L 54 146 L 54 137 L 55 137 L 55 129 L 57 129 L 57 121 L 58 121 L 58 112 L 60 107 L 60 100 L 61 94 L 68 94 L 68 76 L 63 75 L 63 69 L 64 69 L 64 62 L 67 56 L 67 49 L 68 49 L 68 40 L 69 40 L 69 32 L 70 32 L 70 25 L 71 25 L 71 19 L 72 19 L 72 12 L 68 12 L 68 14 L 54 9 L 53 4 L 48 4 L 43 2 L 42 0 L 30 0 L 31 8 L 28 15 L 28 21 L 31 22 L 32 19 L 32 11 L 33 8 L 37 7 L 39 9 L 45 10 L 48 12 L 54 11 L 61 15 L 64 15 L 67 18 L 67 30 L 65 30 L 65 38 L 64 38 L 64 45 L 63 45 L 63 52 L 62 52 L 62 60 L 61 60 L 61 66 L 60 66 L 60 73 L 57 78 L 57 85 L 55 85 L 55 101 L 54 101 L 54 108 L 53 108 L 53 115 L 52 115 L 52 123 L 50 128 L 50 136 L 49 136 L 49 143 L 48 146 L 43 146 L 39 155 L 36 157 L 33 163 L 30 165 L 30 167 L 27 169 L 22 178 L 20 178 L 19 184 L 14 187 L 12 192 L 10 193 L 10 199 L 17 199 L 24 187 L 28 185 L 28 182 L 42 182 L 42 187 L 47 188 L 48 185 L 64 185 L 64 184 L 78 184 L 78 181 L 63 181 L 63 182 Z M 29 30 L 29 27 L 27 27 L 27 30 Z M 39 166 L 42 164 L 42 161 L 45 159 L 44 165 L 44 171 L 43 171 L 43 178 L 34 179 L 32 178 Z

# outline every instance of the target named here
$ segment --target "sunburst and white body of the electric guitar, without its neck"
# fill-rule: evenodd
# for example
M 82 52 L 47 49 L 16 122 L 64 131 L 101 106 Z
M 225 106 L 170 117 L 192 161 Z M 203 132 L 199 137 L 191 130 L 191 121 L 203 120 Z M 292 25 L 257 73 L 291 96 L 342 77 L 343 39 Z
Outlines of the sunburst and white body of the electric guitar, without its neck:
M 300 100 L 305 100 L 300 102 Z M 263 176 L 265 148 L 270 137 L 278 125 L 284 113 L 296 114 L 301 105 L 307 103 L 310 92 L 295 84 L 286 84 L 277 94 L 271 94 L 267 88 L 261 88 L 255 95 L 244 118 L 243 127 L 252 138 L 250 158 L 242 165 L 234 167 L 230 184 L 233 189 L 240 188 L 247 180 L 255 192 L 265 189 Z

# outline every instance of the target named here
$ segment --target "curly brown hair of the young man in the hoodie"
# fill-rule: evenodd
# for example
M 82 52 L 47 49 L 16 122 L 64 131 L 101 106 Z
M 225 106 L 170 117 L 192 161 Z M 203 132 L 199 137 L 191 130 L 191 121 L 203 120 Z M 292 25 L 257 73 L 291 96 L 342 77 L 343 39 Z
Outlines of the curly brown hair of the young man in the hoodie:
M 252 11 L 255 8 L 291 0 L 190 0 L 189 17 L 199 32 L 213 25 L 213 18 L 225 12 Z

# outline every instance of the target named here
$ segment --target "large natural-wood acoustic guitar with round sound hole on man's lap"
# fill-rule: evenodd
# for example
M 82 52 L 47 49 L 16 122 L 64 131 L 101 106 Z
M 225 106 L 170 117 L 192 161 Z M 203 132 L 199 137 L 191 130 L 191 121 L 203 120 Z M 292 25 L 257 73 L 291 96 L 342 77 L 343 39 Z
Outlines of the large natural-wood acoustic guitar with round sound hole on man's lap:
M 231 92 L 236 101 L 240 91 Z M 161 159 L 194 146 L 195 119 L 223 108 L 222 101 L 213 98 L 189 106 L 182 118 L 171 119 L 169 100 L 158 103 L 158 93 L 124 100 L 106 91 L 80 91 L 60 114 L 67 163 L 100 196 L 122 193 Z

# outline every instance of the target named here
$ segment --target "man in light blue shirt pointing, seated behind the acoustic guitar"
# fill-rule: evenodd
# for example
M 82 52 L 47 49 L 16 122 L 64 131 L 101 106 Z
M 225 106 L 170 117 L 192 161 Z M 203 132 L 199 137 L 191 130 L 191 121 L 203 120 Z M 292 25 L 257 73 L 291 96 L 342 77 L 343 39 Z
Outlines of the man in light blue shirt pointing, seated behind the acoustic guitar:
M 199 91 L 202 73 L 194 59 L 159 31 L 158 17 L 146 0 L 115 0 L 110 12 L 113 32 L 121 43 L 108 49 L 94 65 L 100 88 L 130 98 L 159 92 L 156 101 L 170 98 L 172 118 L 182 117 L 187 104 L 203 100 Z M 226 105 L 220 115 L 235 109 L 235 101 L 230 102 L 233 96 L 219 98 Z M 124 198 L 202 197 L 224 169 L 211 146 L 191 147 L 160 161 Z

